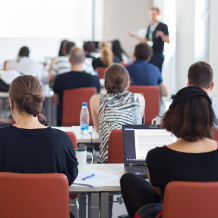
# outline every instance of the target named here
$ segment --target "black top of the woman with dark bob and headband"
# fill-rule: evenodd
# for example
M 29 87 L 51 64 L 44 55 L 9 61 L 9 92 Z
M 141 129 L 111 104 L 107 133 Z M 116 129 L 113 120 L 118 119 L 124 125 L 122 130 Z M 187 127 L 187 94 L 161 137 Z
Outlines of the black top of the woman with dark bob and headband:
M 148 152 L 146 158 L 151 184 L 161 188 L 172 181 L 217 182 L 218 150 L 205 153 L 184 153 L 168 147 Z

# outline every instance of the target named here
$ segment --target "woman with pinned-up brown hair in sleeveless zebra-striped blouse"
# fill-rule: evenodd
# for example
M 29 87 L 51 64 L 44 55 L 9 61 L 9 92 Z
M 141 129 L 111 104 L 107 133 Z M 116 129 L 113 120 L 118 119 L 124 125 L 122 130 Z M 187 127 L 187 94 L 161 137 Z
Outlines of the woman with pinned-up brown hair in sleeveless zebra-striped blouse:
M 99 163 L 108 160 L 108 143 L 112 130 L 122 125 L 142 124 L 145 99 L 140 94 L 128 92 L 129 74 L 125 67 L 113 64 L 105 72 L 106 95 L 94 95 L 90 100 L 91 114 L 100 137 Z

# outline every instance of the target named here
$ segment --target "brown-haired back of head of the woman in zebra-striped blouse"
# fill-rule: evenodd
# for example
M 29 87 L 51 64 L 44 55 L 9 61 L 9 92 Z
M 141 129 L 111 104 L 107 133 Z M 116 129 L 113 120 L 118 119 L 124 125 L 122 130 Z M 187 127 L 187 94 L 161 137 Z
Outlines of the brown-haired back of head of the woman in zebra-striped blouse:
M 130 82 L 128 71 L 120 64 L 113 64 L 108 67 L 104 78 L 108 94 L 123 93 Z

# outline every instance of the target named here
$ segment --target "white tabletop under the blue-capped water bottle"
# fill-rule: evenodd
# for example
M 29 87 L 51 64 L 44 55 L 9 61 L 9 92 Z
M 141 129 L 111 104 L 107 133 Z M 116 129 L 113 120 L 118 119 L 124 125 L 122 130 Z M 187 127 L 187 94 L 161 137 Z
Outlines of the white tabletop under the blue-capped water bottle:
M 53 127 L 56 129 L 60 129 L 64 132 L 74 132 L 76 134 L 78 144 L 99 144 L 99 134 L 94 130 L 93 126 L 89 126 L 89 134 L 84 137 L 80 133 L 80 126 L 72 126 L 72 127 Z

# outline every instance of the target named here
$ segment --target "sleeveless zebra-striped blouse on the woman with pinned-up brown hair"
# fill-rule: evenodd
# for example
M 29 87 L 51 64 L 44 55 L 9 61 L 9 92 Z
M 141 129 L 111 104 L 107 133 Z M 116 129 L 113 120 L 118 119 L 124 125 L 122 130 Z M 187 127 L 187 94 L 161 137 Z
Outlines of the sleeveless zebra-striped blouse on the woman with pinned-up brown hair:
M 98 162 L 103 163 L 108 160 L 111 131 L 121 129 L 122 125 L 142 124 L 142 112 L 137 94 L 124 92 L 101 95 L 98 121 L 100 137 Z

